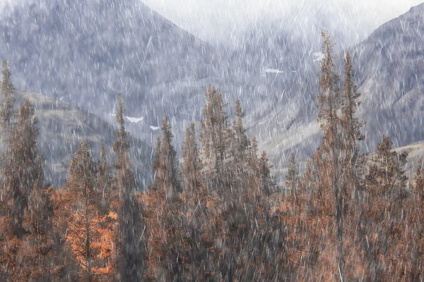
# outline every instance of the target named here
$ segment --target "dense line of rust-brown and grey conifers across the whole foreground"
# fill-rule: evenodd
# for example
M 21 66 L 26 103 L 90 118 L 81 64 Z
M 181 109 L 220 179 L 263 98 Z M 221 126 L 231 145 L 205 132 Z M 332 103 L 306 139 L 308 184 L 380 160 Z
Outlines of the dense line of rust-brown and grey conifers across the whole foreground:
M 83 140 L 63 189 L 48 185 L 29 100 L 14 107 L 8 64 L 0 104 L 1 281 L 422 281 L 424 170 L 408 184 L 406 153 L 389 137 L 365 154 L 351 56 L 343 81 L 325 32 L 317 121 L 322 143 L 302 172 L 288 160 L 273 183 L 235 101 L 206 90 L 182 161 L 163 118 L 153 184 L 137 191 L 124 102 L 117 104 L 114 164 Z

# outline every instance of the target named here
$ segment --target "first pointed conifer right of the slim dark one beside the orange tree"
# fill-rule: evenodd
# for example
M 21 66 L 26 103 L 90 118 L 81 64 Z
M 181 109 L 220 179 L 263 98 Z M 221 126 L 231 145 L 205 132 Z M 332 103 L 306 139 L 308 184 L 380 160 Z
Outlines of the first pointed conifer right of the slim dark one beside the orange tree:
M 182 266 L 179 263 L 182 252 L 179 251 L 177 238 L 181 223 L 177 223 L 181 210 L 177 167 L 177 152 L 172 145 L 173 135 L 167 116 L 163 118 L 162 137 L 158 137 L 155 147 L 153 173 L 155 179 L 149 188 L 148 197 L 148 271 L 147 276 L 160 281 L 180 281 Z M 178 224 L 178 227 L 176 226 Z M 170 232 L 172 230 L 172 232 Z

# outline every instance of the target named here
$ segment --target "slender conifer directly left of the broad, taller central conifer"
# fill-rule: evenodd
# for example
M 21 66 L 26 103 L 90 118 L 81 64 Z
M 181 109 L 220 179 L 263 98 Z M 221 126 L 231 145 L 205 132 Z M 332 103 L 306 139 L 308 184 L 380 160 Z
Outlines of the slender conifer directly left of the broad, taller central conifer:
M 207 221 L 210 210 L 206 207 L 213 195 L 206 190 L 204 178 L 201 175 L 203 164 L 196 143 L 196 128 L 194 123 L 187 127 L 186 138 L 182 145 L 182 203 L 179 207 L 177 222 L 179 228 L 179 250 L 182 253 L 182 274 L 184 281 L 194 278 L 200 281 L 208 280 L 208 273 L 213 269 L 213 263 L 208 257 L 206 243 Z

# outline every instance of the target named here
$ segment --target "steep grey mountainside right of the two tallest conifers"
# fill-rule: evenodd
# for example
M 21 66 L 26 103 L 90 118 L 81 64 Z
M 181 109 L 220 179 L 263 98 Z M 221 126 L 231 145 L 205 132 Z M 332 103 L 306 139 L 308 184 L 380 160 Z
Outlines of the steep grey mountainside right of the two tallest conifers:
M 379 27 L 353 49 L 367 143 L 424 140 L 424 4 Z

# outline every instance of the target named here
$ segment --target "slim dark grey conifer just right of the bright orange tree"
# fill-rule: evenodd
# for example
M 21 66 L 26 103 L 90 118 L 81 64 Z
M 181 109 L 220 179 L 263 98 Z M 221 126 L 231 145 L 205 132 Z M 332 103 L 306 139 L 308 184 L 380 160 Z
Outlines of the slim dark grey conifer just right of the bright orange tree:
M 124 102 L 118 93 L 117 104 L 117 141 L 114 142 L 114 152 L 117 154 L 115 183 L 123 197 L 119 211 L 122 247 L 122 280 L 141 281 L 144 275 L 144 246 L 143 238 L 143 207 L 134 197 L 136 180 L 129 159 L 129 137 L 124 121 Z

